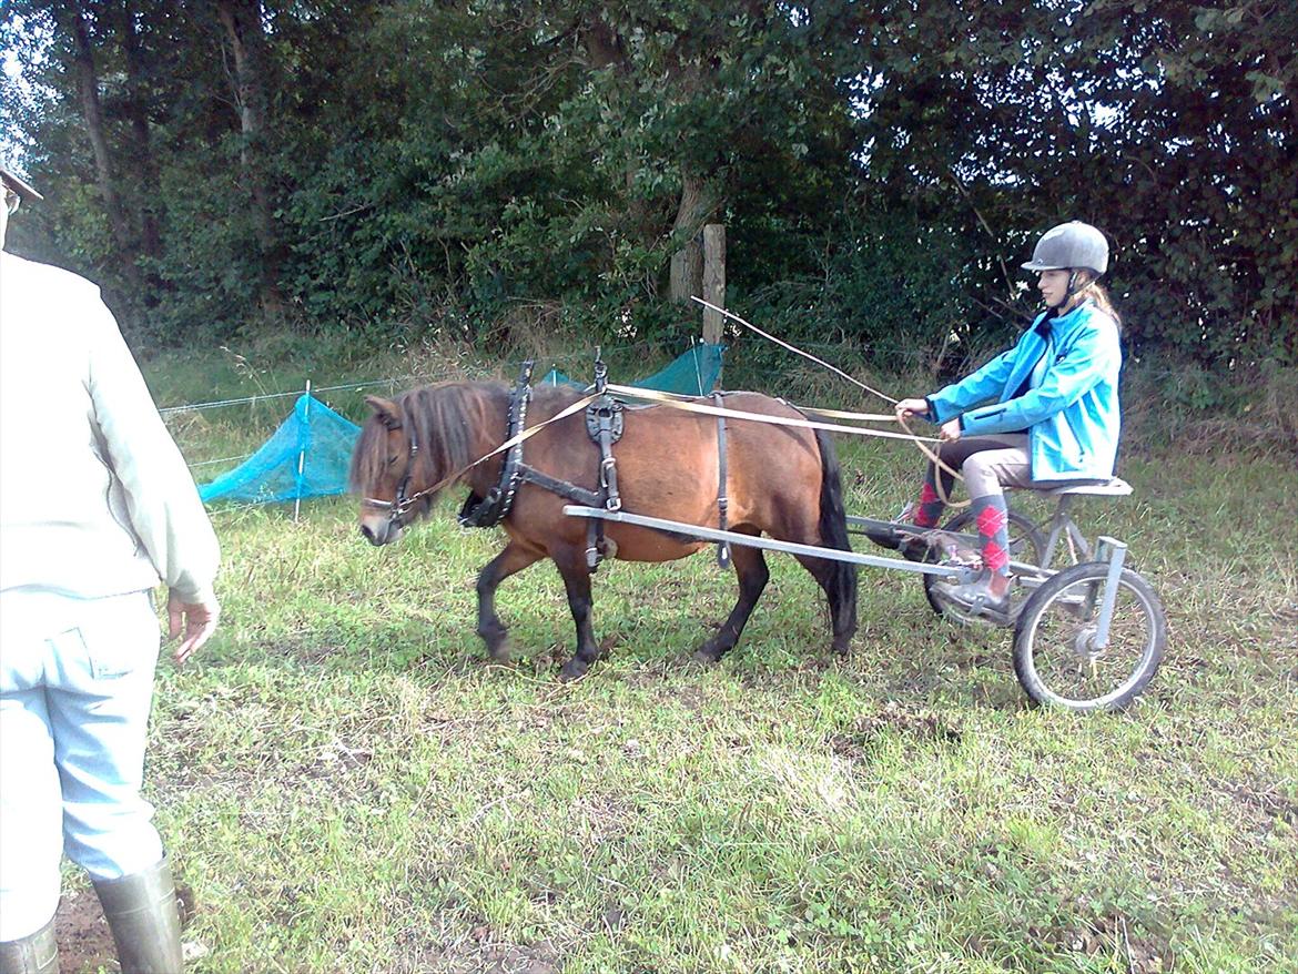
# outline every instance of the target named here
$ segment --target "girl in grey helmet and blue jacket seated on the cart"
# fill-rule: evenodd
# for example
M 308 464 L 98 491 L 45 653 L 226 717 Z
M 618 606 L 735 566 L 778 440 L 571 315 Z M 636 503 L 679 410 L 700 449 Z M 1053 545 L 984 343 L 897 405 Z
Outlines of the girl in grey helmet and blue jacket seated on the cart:
M 940 426 L 940 464 L 929 464 L 919 500 L 902 521 L 935 529 L 964 478 L 977 525 L 983 570 L 946 595 L 975 613 L 1009 614 L 1010 543 L 1006 487 L 1103 483 L 1114 475 L 1120 414 L 1120 319 L 1099 277 L 1108 243 L 1096 227 L 1071 221 L 1049 230 L 1023 265 L 1038 275 L 1042 310 L 1012 348 L 967 378 L 927 396 L 902 399 L 897 418 Z M 868 532 L 885 547 L 916 552 L 907 532 Z

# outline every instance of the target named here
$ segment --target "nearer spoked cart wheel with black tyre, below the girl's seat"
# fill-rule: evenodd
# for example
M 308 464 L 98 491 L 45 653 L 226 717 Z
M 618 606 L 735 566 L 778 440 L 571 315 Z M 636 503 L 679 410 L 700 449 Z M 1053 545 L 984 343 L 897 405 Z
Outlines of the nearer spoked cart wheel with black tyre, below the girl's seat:
M 1167 617 L 1153 587 L 1123 569 L 1108 645 L 1094 648 L 1108 564 L 1086 561 L 1053 575 L 1028 599 L 1014 631 L 1014 671 L 1038 704 L 1119 710 L 1154 678 Z

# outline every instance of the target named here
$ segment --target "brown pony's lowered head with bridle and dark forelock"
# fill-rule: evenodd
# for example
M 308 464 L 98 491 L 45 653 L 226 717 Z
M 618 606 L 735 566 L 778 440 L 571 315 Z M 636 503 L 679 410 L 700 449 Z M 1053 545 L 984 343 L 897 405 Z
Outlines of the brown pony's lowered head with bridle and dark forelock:
M 352 452 L 352 492 L 361 497 L 361 534 L 389 544 L 432 509 L 443 487 L 475 457 L 482 408 L 467 383 L 366 396 L 374 410 Z

